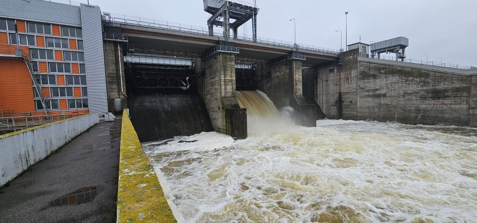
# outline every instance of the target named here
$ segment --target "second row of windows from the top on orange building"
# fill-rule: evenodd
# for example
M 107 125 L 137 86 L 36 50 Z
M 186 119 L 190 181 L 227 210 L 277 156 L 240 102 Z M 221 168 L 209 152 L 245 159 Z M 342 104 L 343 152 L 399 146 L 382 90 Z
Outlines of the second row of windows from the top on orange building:
M 10 44 L 17 45 L 16 35 L 13 33 L 9 33 L 8 36 L 9 36 Z M 33 35 L 18 34 L 18 39 L 20 39 L 20 45 L 37 46 L 36 38 Z M 68 39 L 46 37 L 45 41 L 46 41 L 46 47 L 49 47 L 49 48 L 70 49 L 70 41 Z M 82 40 L 77 40 L 76 45 L 79 50 L 84 50 L 84 45 Z

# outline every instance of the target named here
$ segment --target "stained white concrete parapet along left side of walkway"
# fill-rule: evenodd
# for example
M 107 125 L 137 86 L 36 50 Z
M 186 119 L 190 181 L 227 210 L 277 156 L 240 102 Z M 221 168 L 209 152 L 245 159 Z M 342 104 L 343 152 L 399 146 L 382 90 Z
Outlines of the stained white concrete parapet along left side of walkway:
M 0 186 L 98 122 L 91 113 L 0 135 Z

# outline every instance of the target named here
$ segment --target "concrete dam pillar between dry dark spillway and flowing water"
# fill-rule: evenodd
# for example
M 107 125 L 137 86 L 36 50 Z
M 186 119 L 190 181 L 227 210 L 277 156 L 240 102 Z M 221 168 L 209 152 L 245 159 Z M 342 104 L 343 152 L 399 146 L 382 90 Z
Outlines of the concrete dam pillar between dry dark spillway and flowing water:
M 238 53 L 238 48 L 234 52 L 228 51 L 232 48 L 220 51 L 221 46 L 217 47 L 212 49 L 211 54 L 203 56 L 205 75 L 198 91 L 205 102 L 214 131 L 230 135 L 234 139 L 245 139 L 247 110 L 238 106 L 235 95 L 235 54 Z

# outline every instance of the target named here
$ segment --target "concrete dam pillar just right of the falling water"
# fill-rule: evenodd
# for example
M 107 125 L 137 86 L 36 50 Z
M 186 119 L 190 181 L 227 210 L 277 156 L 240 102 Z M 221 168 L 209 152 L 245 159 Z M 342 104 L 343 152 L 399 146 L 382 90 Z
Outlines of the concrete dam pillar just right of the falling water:
M 277 109 L 293 108 L 295 122 L 302 126 L 316 126 L 316 103 L 303 97 L 302 60 L 287 59 L 275 63 L 262 63 L 260 75 L 268 78 L 258 83 L 258 89 L 267 94 Z

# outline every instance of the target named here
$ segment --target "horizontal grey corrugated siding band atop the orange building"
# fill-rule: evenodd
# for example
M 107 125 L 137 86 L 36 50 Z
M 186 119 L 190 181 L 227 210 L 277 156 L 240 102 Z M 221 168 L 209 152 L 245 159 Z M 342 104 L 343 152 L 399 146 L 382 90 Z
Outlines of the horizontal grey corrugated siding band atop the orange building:
M 42 0 L 2 0 L 0 17 L 81 25 L 80 7 Z

